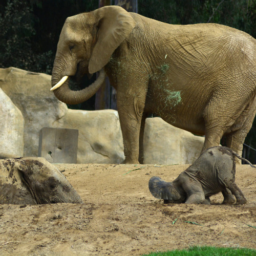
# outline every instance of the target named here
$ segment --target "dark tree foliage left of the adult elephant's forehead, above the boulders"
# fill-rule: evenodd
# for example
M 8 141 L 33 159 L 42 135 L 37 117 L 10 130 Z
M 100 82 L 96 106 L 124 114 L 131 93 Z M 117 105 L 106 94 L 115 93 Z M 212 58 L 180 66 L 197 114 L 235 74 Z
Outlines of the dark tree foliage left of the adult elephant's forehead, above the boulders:
M 93 0 L 1 0 L 0 68 L 51 74 L 66 18 L 97 8 Z

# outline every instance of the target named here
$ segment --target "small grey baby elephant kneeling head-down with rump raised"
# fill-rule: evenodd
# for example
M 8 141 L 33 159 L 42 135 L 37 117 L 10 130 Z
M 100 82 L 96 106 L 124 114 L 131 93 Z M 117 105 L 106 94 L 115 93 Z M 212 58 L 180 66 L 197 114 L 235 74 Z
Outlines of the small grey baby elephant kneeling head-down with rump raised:
M 236 197 L 237 204 L 245 204 L 247 201 L 234 182 L 235 156 L 254 167 L 230 148 L 216 146 L 205 150 L 173 182 L 165 182 L 159 177 L 152 177 L 148 182 L 148 187 L 151 194 L 158 199 L 164 199 L 164 203 L 210 204 L 209 197 L 222 192 L 223 204 L 235 202 L 232 194 Z

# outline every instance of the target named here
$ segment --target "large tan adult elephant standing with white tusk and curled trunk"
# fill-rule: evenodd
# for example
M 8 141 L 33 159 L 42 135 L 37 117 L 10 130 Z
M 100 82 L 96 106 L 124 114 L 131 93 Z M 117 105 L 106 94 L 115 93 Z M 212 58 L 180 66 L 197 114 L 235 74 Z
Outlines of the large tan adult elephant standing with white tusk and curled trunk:
M 71 91 L 69 79 L 59 87 L 67 77 L 97 71 L 81 91 Z M 165 24 L 118 6 L 67 18 L 52 72 L 56 97 L 69 104 L 89 99 L 104 72 L 117 90 L 126 163 L 141 162 L 148 113 L 205 135 L 203 150 L 226 135 L 226 145 L 241 155 L 256 110 L 250 35 L 218 24 Z

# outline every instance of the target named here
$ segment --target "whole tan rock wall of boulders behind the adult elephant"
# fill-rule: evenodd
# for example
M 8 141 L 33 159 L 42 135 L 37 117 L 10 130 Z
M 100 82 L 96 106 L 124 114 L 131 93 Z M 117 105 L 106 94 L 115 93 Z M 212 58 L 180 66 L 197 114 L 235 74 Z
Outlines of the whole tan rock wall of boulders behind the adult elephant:
M 16 68 L 0 69 L 0 88 L 0 152 L 37 156 L 39 131 L 42 127 L 55 127 L 79 130 L 77 163 L 124 160 L 116 111 L 70 110 L 50 91 L 51 76 Z M 148 118 L 144 163 L 192 163 L 199 156 L 203 141 L 161 118 Z

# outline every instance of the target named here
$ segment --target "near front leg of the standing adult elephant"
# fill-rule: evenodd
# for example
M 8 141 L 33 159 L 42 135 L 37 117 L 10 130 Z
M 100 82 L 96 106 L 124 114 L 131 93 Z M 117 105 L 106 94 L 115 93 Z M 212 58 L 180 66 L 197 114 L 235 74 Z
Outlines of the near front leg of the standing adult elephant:
M 117 94 L 117 108 L 123 136 L 126 164 L 139 163 L 139 141 L 141 120 L 145 106 L 145 96 L 122 97 Z M 143 134 L 143 133 L 142 133 Z

